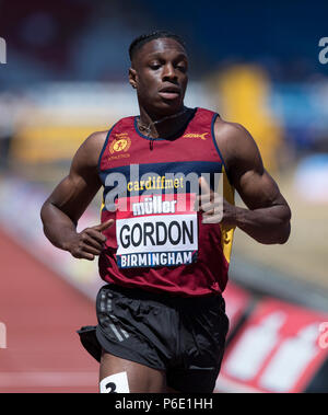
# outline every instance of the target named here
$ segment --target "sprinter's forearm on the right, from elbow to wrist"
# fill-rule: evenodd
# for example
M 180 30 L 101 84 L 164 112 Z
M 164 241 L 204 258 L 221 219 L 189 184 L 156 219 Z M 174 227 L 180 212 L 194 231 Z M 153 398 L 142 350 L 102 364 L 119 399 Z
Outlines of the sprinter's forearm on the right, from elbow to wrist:
M 261 209 L 235 208 L 236 226 L 263 244 L 285 243 L 291 232 L 288 206 L 276 205 Z

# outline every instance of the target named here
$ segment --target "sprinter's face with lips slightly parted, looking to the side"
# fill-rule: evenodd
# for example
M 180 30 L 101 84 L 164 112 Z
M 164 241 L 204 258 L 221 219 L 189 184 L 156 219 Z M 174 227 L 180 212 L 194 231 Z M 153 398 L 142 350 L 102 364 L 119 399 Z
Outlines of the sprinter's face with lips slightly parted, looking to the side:
M 151 41 L 139 49 L 130 69 L 140 108 L 149 114 L 171 115 L 181 109 L 188 83 L 185 48 L 173 38 Z

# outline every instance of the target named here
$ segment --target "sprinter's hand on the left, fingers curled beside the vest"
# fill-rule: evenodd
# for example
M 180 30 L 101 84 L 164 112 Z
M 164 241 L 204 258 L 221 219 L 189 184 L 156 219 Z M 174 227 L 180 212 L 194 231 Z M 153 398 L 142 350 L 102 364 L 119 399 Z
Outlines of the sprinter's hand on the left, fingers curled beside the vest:
M 104 249 L 106 237 L 103 235 L 106 229 L 110 228 L 114 219 L 92 228 L 85 228 L 82 232 L 75 233 L 71 241 L 67 243 L 66 250 L 74 258 L 93 261 L 95 255 L 99 255 Z

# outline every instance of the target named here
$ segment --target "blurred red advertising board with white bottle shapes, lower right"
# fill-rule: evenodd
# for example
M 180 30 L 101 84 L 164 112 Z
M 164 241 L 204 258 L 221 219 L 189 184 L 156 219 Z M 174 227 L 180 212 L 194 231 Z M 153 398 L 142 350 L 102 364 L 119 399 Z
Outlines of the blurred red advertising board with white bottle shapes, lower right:
M 215 391 L 306 391 L 328 358 L 326 322 L 328 314 L 260 300 L 227 346 Z M 327 374 L 326 385 L 318 385 L 326 392 Z

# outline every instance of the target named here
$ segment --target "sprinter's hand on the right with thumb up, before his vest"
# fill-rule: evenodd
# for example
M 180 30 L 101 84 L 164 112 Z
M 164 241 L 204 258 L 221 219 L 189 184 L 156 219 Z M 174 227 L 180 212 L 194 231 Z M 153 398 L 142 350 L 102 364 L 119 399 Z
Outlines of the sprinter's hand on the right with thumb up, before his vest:
M 203 177 L 199 178 L 201 194 L 197 196 L 199 211 L 202 212 L 202 223 L 222 223 L 235 226 L 236 208 L 224 197 L 213 192 Z

